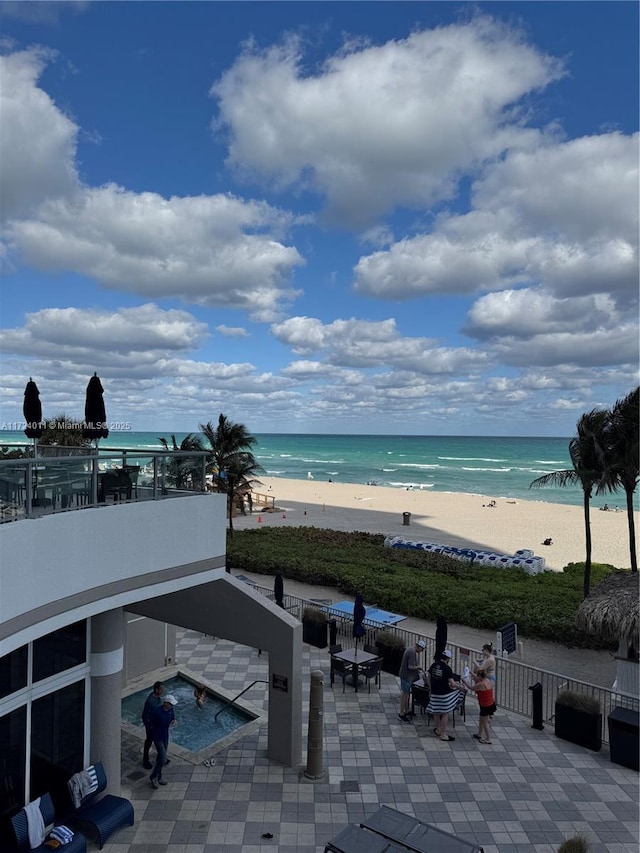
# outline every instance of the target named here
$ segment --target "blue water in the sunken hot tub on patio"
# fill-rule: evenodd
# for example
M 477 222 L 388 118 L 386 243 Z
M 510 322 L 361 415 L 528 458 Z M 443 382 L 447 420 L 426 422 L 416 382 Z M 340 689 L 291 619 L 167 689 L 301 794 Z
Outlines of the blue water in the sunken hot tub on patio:
M 165 694 L 173 693 L 178 700 L 174 708 L 177 725 L 171 727 L 170 740 L 191 752 L 206 749 L 255 719 L 247 711 L 232 705 L 215 720 L 216 713 L 227 704 L 226 699 L 220 699 L 207 690 L 207 701 L 203 708 L 198 708 L 193 696 L 195 685 L 186 678 L 176 675 L 163 684 Z M 144 728 L 140 715 L 150 692 L 151 687 L 146 687 L 125 697 L 122 700 L 122 719 Z

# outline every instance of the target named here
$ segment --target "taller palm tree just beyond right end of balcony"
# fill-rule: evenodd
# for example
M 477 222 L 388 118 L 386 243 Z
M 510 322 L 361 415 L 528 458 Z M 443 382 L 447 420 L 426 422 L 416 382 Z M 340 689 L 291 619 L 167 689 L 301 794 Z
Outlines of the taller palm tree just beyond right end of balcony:
M 221 414 L 218 425 L 211 421 L 200 424 L 211 447 L 211 468 L 214 484 L 227 495 L 229 529 L 233 535 L 233 507 L 238 495 L 250 490 L 258 481 L 256 475 L 264 470 L 255 460 L 251 448 L 258 440 L 244 424 L 236 424 Z

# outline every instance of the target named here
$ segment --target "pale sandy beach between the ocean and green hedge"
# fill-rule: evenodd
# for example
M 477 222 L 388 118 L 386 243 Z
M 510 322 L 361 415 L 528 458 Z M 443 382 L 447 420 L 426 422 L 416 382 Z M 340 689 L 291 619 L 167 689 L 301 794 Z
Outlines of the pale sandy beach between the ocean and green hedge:
M 261 482 L 255 492 L 265 500 L 254 499 L 253 514 L 238 515 L 236 528 L 309 525 L 504 554 L 528 548 L 544 557 L 546 567 L 554 571 L 584 560 L 584 514 L 579 506 L 317 480 L 263 477 Z M 276 509 L 263 511 L 272 501 Z M 489 506 L 492 501 L 495 506 Z M 604 503 L 598 498 L 591 508 L 592 559 L 629 568 L 626 513 L 603 512 L 598 507 Z M 403 523 L 405 512 L 411 513 L 409 525 Z M 640 513 L 636 513 L 636 529 L 640 529 Z M 552 545 L 542 544 L 547 538 Z

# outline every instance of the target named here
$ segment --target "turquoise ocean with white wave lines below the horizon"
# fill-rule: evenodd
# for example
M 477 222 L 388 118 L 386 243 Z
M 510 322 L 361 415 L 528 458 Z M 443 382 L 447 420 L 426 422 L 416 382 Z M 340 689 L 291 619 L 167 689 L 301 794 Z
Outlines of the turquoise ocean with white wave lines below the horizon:
M 184 435 L 176 434 L 178 443 Z M 566 438 L 276 433 L 256 438 L 254 456 L 269 477 L 311 475 L 320 481 L 582 505 L 579 487 L 529 488 L 537 477 L 571 467 Z M 26 443 L 24 433 L 0 433 L 0 445 Z M 112 432 L 100 447 L 161 449 L 155 432 Z M 624 508 L 624 494 L 596 496 L 592 505 L 605 502 Z

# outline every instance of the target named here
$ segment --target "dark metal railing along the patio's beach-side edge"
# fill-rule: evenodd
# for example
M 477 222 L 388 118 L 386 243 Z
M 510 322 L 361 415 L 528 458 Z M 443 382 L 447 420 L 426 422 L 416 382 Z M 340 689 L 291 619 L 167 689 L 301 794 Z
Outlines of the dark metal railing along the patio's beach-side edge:
M 273 589 L 253 583 L 252 586 L 254 586 L 256 591 L 273 598 Z M 306 607 L 315 607 L 324 610 L 329 619 L 335 619 L 336 638 L 339 638 L 343 648 L 350 648 L 355 645 L 353 638 L 353 618 L 340 611 L 332 610 L 330 604 L 285 594 L 284 606 L 289 613 L 292 613 L 300 620 Z M 427 644 L 425 660 L 429 661 L 433 659 L 436 644 L 435 637 L 422 636 L 413 631 L 406 631 L 396 625 L 390 626 L 383 625 L 382 623 L 374 623 L 372 620 L 367 621 L 369 624 L 365 624 L 365 635 L 359 639 L 359 645 L 375 645 L 376 637 L 384 631 L 398 637 L 405 647 L 413 645 L 418 639 L 424 639 Z M 482 657 L 478 649 L 466 648 L 455 643 L 447 643 L 447 647 L 452 652 L 451 668 L 457 673 L 462 673 L 465 666 L 471 668 L 475 659 Z M 504 708 L 506 711 L 512 711 L 524 717 L 532 716 L 532 696 L 529 688 L 538 683 L 542 685 L 542 715 L 543 721 L 546 723 L 553 722 L 555 701 L 561 690 L 571 690 L 574 693 L 582 693 L 597 699 L 602 714 L 603 743 L 609 742 L 607 717 L 614 707 L 630 708 L 634 711 L 640 710 L 640 700 L 638 697 L 619 693 L 606 687 L 599 687 L 595 684 L 588 684 L 585 681 L 570 678 L 560 673 L 530 666 L 513 658 L 496 658 L 495 695 L 496 704 L 499 708 Z

